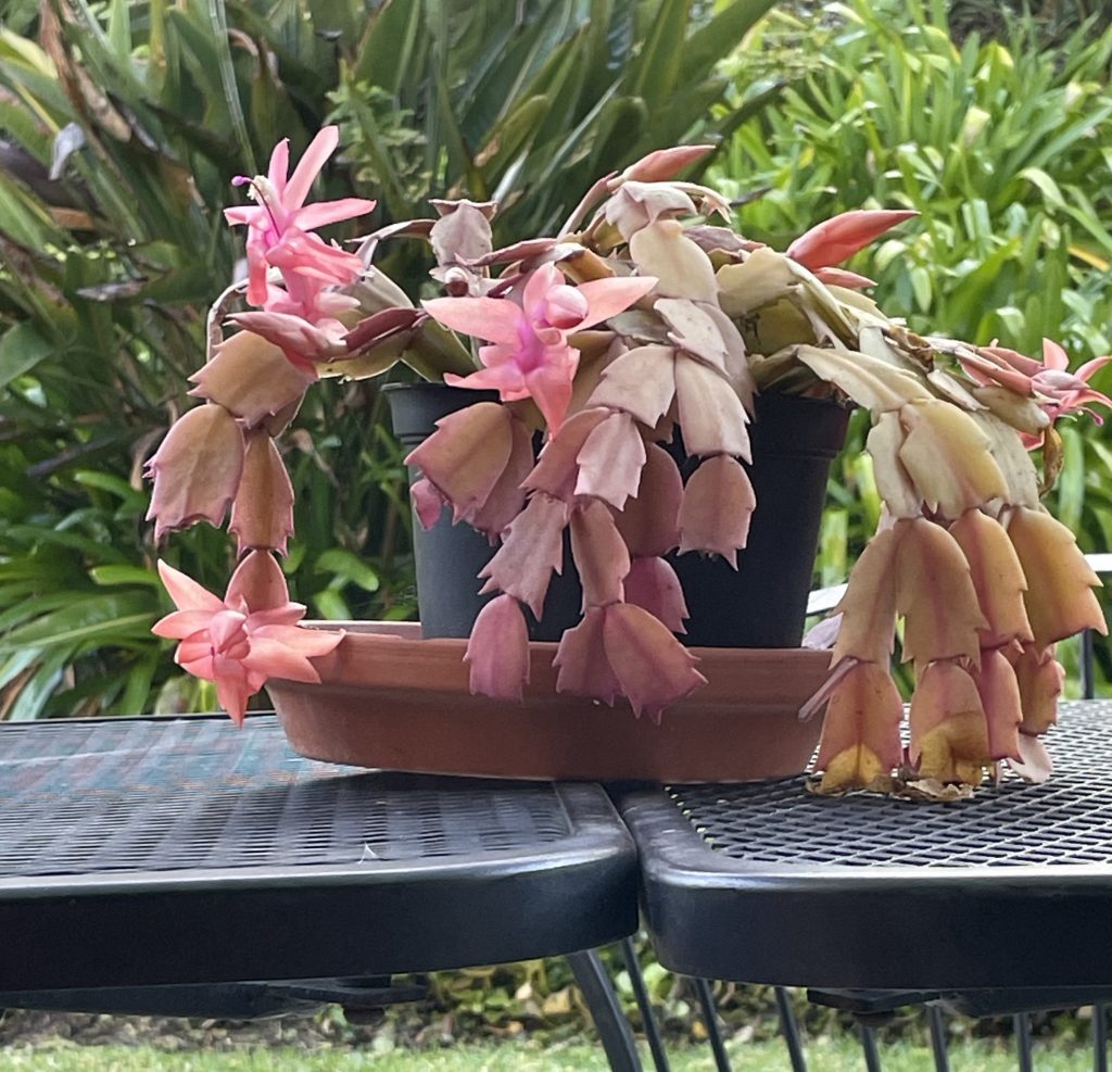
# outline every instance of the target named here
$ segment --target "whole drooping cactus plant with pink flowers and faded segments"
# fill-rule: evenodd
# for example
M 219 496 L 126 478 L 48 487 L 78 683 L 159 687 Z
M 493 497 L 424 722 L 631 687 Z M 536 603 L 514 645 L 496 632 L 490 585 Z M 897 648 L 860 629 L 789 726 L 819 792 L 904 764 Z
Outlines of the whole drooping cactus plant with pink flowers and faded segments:
M 590 189 L 559 231 L 493 248 L 493 204 L 436 201 L 435 219 L 394 225 L 358 252 L 315 228 L 363 215 L 360 199 L 307 205 L 335 149 L 324 130 L 292 176 L 239 179 L 254 205 L 248 276 L 214 308 L 192 377 L 203 400 L 151 458 L 156 533 L 230 508 L 240 565 L 224 598 L 162 565 L 179 609 L 156 632 L 178 662 L 215 681 L 241 718 L 268 677 L 312 681 L 339 631 L 295 626 L 275 555 L 292 495 L 275 438 L 320 376 L 373 376 L 400 359 L 429 378 L 496 390 L 439 421 L 407 459 L 430 526 L 447 505 L 493 546 L 493 594 L 467 646 L 473 692 L 518 698 L 528 674 L 523 607 L 538 617 L 565 533 L 582 619 L 555 655 L 557 688 L 658 718 L 704 683 L 684 647 L 687 608 L 665 554 L 744 553 L 759 506 L 739 459 L 758 391 L 850 400 L 872 416 L 867 448 L 885 504 L 832 634 L 821 788 L 878 784 L 904 766 L 975 784 L 1001 761 L 1046 768 L 1037 737 L 1055 717 L 1053 646 L 1104 628 L 1073 536 L 1040 505 L 1027 448 L 1053 454 L 1054 421 L 1110 400 L 1089 386 L 1109 358 L 1071 374 L 1002 347 L 922 338 L 885 316 L 870 280 L 840 265 L 913 214 L 847 212 L 784 252 L 722 224 L 729 206 L 675 178 L 706 147 L 654 152 Z M 373 267 L 379 241 L 428 241 L 441 297 L 415 305 Z M 250 308 L 244 309 L 246 305 Z M 662 444 L 682 431 L 699 459 L 686 484 Z M 535 454 L 537 433 L 543 446 Z M 1044 461 L 1042 477 L 1052 475 Z M 897 622 L 914 664 L 911 744 L 890 674 Z M 390 643 L 383 638 L 384 645 Z

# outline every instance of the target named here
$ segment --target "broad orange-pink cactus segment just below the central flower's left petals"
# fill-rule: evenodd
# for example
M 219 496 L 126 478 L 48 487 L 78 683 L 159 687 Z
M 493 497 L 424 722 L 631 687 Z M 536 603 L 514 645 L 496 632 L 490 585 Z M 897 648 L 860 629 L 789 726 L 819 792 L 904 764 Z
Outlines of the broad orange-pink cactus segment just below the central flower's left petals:
M 476 403 L 441 417 L 411 450 L 406 465 L 420 468 L 451 504 L 455 518 L 473 516 L 486 503 L 513 447 L 513 415 L 497 403 Z

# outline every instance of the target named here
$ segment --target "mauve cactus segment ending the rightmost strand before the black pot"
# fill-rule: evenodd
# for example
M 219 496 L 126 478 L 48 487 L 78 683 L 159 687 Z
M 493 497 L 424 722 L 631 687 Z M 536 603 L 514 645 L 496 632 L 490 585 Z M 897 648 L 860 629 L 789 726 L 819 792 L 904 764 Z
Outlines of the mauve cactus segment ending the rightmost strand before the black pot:
M 722 555 L 735 569 L 745 546 L 757 500 L 753 485 L 735 458 L 707 458 L 687 479 L 679 507 L 679 554 L 703 550 Z

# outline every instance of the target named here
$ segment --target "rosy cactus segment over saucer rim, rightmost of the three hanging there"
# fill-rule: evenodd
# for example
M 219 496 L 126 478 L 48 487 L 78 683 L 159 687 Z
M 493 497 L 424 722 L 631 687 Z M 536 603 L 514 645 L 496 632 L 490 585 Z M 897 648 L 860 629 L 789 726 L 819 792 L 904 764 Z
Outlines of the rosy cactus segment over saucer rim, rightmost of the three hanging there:
M 706 684 L 698 659 L 647 611 L 615 603 L 605 615 L 603 647 L 634 714 L 659 722 L 665 707 Z

